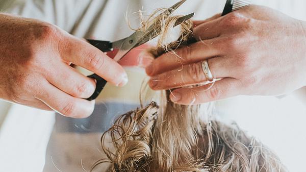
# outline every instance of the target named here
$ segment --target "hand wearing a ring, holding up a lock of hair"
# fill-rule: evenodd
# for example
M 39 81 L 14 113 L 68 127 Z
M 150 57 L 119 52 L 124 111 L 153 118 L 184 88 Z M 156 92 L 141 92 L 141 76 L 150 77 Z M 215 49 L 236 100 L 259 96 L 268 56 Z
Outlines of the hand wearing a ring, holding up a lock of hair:
M 196 24 L 198 42 L 176 51 L 183 59 L 168 53 L 146 68 L 152 89 L 177 88 L 170 96 L 173 102 L 190 105 L 241 94 L 279 95 L 306 85 L 306 23 L 250 6 Z M 203 60 L 221 80 L 186 88 L 207 81 Z

